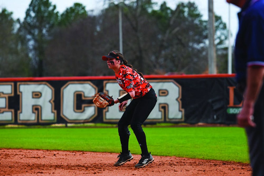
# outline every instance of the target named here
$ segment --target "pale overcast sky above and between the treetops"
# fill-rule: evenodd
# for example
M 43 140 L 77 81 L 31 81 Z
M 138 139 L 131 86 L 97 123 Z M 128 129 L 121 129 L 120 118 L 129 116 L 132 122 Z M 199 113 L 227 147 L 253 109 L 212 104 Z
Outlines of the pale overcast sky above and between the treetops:
M 208 19 L 208 0 L 165 0 L 167 5 L 172 9 L 175 9 L 176 4 L 179 2 L 195 2 L 202 13 L 204 19 Z M 0 0 L 0 9 L 6 8 L 8 11 L 13 12 L 13 18 L 20 18 L 21 21 L 25 17 L 26 9 L 28 8 L 31 0 Z M 103 8 L 104 0 L 50 0 L 52 4 L 56 5 L 56 9 L 62 13 L 67 7 L 71 7 L 75 2 L 82 3 L 86 6 L 86 10 L 94 10 L 94 13 L 100 11 Z M 157 2 L 158 6 L 164 2 L 164 0 L 152 0 Z M 229 4 L 225 0 L 214 0 L 214 12 L 216 15 L 222 17 L 222 20 L 227 23 L 228 27 L 228 9 Z M 230 28 L 232 33 L 232 43 L 234 42 L 235 35 L 238 30 L 237 13 L 239 8 L 230 5 Z

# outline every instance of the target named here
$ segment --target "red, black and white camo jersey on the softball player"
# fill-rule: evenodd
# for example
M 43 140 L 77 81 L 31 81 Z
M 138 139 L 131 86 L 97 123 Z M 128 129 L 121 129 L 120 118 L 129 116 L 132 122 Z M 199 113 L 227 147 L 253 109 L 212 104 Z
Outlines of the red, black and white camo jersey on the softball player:
M 121 65 L 118 74 L 115 74 L 117 83 L 126 91 L 135 91 L 134 98 L 143 97 L 152 86 L 135 70 L 126 65 Z

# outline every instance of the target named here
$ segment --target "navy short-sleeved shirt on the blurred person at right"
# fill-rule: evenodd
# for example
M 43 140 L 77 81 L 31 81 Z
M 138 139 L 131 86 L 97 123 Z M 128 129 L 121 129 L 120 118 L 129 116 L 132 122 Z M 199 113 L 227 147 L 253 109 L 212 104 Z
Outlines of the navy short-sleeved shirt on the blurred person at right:
M 247 67 L 264 66 L 264 0 L 248 0 L 238 13 L 239 29 L 235 42 L 237 82 L 246 82 Z

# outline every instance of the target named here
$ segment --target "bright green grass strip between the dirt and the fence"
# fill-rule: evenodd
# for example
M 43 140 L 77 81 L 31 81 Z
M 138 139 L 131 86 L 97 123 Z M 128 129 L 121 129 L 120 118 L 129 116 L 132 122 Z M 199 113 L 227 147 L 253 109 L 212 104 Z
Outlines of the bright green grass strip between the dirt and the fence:
M 153 155 L 249 163 L 244 129 L 239 127 L 144 127 Z M 133 131 L 132 154 L 140 154 Z M 119 153 L 116 127 L 0 128 L 0 148 Z

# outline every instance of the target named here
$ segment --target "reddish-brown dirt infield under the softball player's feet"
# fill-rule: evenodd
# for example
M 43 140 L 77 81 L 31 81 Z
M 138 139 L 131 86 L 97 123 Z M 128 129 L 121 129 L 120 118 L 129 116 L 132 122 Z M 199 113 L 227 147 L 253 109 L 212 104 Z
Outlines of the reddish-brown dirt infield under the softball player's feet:
M 155 156 L 134 168 L 140 155 L 115 167 L 117 153 L 0 149 L 0 175 L 251 175 L 249 164 Z

